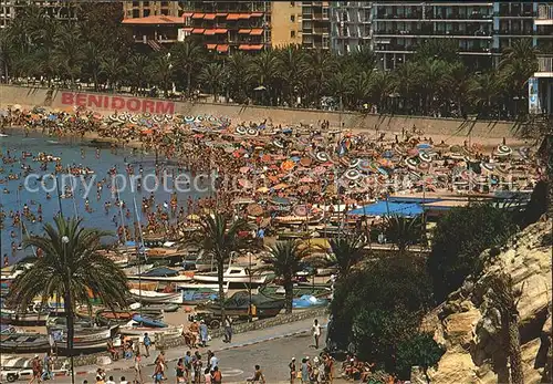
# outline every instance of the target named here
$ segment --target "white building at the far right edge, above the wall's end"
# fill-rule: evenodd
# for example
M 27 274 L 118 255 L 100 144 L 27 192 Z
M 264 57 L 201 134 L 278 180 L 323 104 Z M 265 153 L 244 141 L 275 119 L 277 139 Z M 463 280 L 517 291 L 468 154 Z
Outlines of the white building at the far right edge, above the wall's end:
M 553 115 L 553 49 L 546 39 L 553 39 L 553 2 L 539 3 L 533 18 L 534 45 L 540 49 L 538 54 L 538 72 L 529 80 L 529 112 Z M 549 43 L 549 44 L 547 44 Z

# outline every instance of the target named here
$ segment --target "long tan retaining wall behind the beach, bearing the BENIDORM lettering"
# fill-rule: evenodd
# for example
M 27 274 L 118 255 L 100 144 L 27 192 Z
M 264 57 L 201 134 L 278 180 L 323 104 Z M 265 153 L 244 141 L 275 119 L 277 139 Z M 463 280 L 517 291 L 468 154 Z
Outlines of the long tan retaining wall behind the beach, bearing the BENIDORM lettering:
M 414 125 L 425 134 L 472 137 L 513 137 L 512 122 L 463 121 L 457 118 L 432 118 L 403 115 L 375 115 L 354 112 L 326 112 L 316 110 L 276 108 L 263 106 L 240 106 L 236 104 L 188 103 L 161 98 L 134 97 L 118 94 L 70 92 L 42 87 L 0 85 L 0 105 L 20 104 L 22 106 L 42 105 L 66 108 L 71 105 L 85 105 L 92 110 L 111 113 L 113 111 L 180 113 L 185 115 L 226 116 L 233 122 L 260 122 L 265 118 L 273 124 L 313 124 L 327 120 L 331 127 L 354 129 L 375 129 L 401 132 Z

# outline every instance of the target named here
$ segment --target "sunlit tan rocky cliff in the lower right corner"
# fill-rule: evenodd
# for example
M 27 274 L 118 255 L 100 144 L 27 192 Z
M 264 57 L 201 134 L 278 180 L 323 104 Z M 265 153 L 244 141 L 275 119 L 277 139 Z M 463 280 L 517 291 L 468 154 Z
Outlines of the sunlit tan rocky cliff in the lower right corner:
M 525 383 L 551 383 L 552 220 L 539 221 L 502 249 L 480 256 L 483 272 L 466 280 L 435 312 L 435 340 L 446 346 L 431 383 L 508 383 L 509 346 L 489 299 L 490 277 L 504 272 L 521 291 L 517 308 Z

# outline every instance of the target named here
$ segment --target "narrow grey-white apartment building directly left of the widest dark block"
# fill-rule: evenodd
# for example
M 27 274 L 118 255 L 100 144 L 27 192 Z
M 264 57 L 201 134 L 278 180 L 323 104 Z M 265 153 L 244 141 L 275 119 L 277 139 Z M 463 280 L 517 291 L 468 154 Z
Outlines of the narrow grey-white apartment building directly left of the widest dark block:
M 331 49 L 345 54 L 371 46 L 371 1 L 331 2 Z

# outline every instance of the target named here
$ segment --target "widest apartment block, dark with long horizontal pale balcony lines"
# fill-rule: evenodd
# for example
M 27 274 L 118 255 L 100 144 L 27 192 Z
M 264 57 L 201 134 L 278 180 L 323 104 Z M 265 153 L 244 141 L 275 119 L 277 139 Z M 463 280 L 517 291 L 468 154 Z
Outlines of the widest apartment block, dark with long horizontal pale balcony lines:
M 492 55 L 490 2 L 373 2 L 372 46 L 384 69 L 394 69 L 428 39 L 451 40 L 477 66 Z

